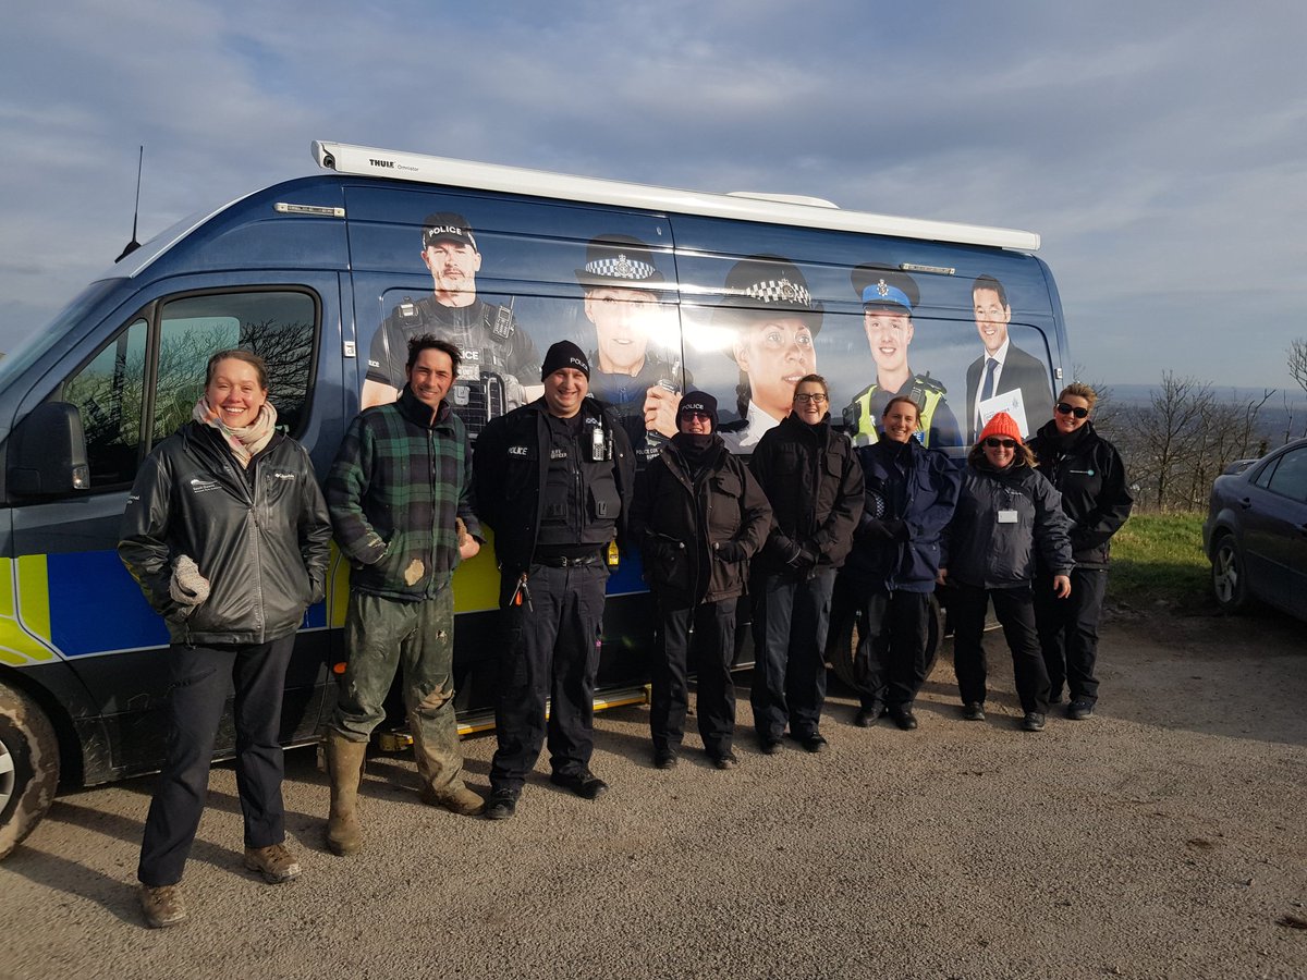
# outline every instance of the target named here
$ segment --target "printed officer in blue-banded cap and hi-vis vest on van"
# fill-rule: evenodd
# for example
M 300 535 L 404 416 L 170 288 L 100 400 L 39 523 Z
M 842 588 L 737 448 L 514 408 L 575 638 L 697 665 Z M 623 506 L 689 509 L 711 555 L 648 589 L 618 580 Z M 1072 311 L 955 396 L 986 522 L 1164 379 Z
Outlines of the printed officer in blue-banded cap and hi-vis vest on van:
M 844 408 L 844 430 L 856 446 L 877 440 L 876 425 L 890 399 L 911 399 L 918 408 L 916 438 L 927 448 L 958 446 L 962 431 L 945 401 L 948 389 L 931 374 L 915 374 L 907 349 L 915 325 L 912 310 L 921 302 L 916 280 L 906 272 L 864 263 L 851 273 L 853 291 L 863 301 L 863 329 L 876 362 L 876 380 Z

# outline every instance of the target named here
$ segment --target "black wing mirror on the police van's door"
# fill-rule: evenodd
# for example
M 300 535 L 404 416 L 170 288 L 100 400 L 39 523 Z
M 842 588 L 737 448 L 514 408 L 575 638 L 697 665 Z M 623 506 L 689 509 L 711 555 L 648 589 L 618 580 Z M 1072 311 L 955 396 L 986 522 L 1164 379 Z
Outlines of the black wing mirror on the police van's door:
M 90 489 L 81 413 L 67 401 L 43 401 L 9 436 L 9 493 L 55 497 Z

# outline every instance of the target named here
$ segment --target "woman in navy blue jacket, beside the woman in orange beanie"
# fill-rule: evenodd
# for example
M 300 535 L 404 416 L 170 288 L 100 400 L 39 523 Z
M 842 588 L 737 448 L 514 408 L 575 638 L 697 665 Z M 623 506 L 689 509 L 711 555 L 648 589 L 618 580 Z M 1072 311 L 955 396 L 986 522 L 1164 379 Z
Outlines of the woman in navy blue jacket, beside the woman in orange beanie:
M 864 728 L 886 708 L 899 728 L 916 728 L 912 703 L 925 682 L 940 532 L 953 517 L 962 474 L 942 452 L 921 444 L 920 422 L 915 401 L 890 399 L 880 439 L 857 451 L 865 503 L 840 578 L 859 622 L 856 723 Z

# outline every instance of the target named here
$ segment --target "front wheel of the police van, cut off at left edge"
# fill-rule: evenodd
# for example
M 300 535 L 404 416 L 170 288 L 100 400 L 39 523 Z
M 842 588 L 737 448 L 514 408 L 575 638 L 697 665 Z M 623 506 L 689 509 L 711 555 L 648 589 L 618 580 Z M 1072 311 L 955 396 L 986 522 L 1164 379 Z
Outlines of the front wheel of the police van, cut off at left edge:
M 59 785 L 59 740 L 44 712 L 0 683 L 0 858 L 41 823 Z

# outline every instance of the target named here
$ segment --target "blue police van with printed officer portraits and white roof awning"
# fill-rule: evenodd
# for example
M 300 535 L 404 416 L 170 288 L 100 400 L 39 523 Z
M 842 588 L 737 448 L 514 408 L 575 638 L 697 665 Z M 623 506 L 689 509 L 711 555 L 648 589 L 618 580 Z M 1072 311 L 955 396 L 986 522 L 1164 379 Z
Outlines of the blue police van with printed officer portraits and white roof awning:
M 469 366 L 455 409 L 473 434 L 536 397 L 540 355 L 570 338 L 591 351 L 592 392 L 622 409 L 643 455 L 667 438 L 665 409 L 687 385 L 718 397 L 723 431 L 748 452 L 816 371 L 855 440 L 874 438 L 877 396 L 903 392 L 951 418 L 931 431 L 961 456 L 1000 406 L 1038 426 L 1070 363 L 1031 233 L 332 142 L 312 153 L 322 172 L 170 227 L 0 359 L 0 857 L 60 785 L 162 762 L 167 636 L 115 546 L 141 460 L 190 418 L 216 350 L 268 362 L 280 422 L 319 476 L 361 404 L 386 391 L 386 344 L 431 324 L 461 331 L 451 338 Z M 451 290 L 459 270 L 442 265 L 439 229 L 455 223 L 474 255 Z M 616 247 L 601 268 L 587 265 L 596 240 Z M 750 256 L 775 263 L 769 289 L 808 307 L 802 329 L 723 316 L 748 306 L 725 284 Z M 652 294 L 623 294 L 623 277 L 655 276 Z M 901 298 L 906 328 L 864 316 L 872 293 Z M 1029 389 L 982 397 L 979 363 L 996 337 L 1039 362 L 1044 404 Z M 333 558 L 328 597 L 298 635 L 286 745 L 312 742 L 329 711 L 346 571 Z M 465 729 L 491 703 L 497 581 L 490 547 L 455 576 Z M 648 674 L 654 617 L 637 555 L 623 555 L 609 595 L 599 687 L 616 703 L 640 698 Z M 227 719 L 218 753 L 233 742 Z

